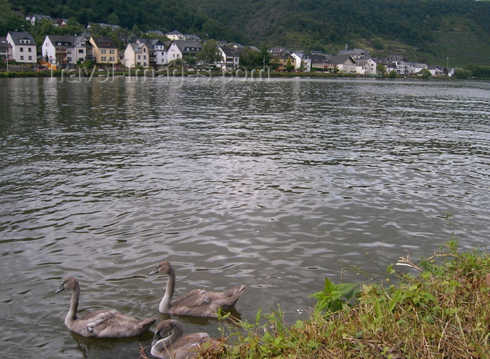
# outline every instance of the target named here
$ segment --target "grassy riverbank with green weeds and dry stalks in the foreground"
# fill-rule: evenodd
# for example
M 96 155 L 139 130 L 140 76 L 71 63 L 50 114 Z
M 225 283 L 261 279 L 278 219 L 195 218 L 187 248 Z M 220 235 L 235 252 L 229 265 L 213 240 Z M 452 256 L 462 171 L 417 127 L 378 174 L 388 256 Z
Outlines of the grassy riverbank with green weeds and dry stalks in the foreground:
M 238 322 L 242 330 L 228 335 L 234 346 L 202 356 L 489 358 L 488 253 L 460 253 L 451 241 L 417 264 L 401 258 L 379 274 L 384 280 L 362 287 L 325 279 L 308 320 L 289 326 L 280 309 L 259 312 L 255 323 Z

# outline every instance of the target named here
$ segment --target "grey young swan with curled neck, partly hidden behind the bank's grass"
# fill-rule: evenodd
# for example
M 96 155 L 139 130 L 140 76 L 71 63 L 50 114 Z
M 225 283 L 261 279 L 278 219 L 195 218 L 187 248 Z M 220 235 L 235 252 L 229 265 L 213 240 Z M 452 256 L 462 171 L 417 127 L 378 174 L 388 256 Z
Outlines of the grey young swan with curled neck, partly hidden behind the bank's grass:
M 182 324 L 174 319 L 162 321 L 155 328 L 151 343 L 151 355 L 160 359 L 185 359 L 197 356 L 200 351 L 216 348 L 218 339 L 209 337 L 208 333 L 191 333 L 183 335 Z

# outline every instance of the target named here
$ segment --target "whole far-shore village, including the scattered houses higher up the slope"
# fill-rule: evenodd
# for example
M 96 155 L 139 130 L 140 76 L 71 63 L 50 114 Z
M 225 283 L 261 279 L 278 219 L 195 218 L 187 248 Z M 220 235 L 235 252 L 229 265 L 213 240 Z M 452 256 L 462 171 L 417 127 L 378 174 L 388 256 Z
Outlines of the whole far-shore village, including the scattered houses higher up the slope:
M 66 19 L 52 20 L 47 15 L 31 15 L 26 17 L 31 24 L 36 21 L 49 20 L 56 27 L 66 26 Z M 90 34 L 94 24 L 88 24 L 83 34 L 78 36 L 47 35 L 38 53 L 34 37 L 27 31 L 10 31 L 5 37 L 0 36 L 0 59 L 6 63 L 31 65 L 36 71 L 69 69 L 79 66 L 85 61 L 91 61 L 99 66 L 116 66 L 120 69 L 151 68 L 158 70 L 166 66 L 202 66 L 199 53 L 207 41 L 202 41 L 196 35 L 182 34 L 172 31 L 163 34 L 162 31 L 148 31 L 147 35 L 155 38 L 138 38 L 128 43 L 125 41 L 124 51 L 119 50 L 116 44 L 108 37 L 95 37 Z M 100 24 L 98 27 L 111 27 L 118 25 Z M 206 64 L 220 71 L 234 71 L 243 66 L 241 54 L 255 52 L 262 56 L 261 50 L 255 46 L 240 45 L 238 43 L 216 43 L 216 59 L 212 64 Z M 260 54 L 260 55 L 259 55 Z M 337 54 L 323 54 L 320 51 L 305 52 L 290 50 L 283 47 L 267 48 L 260 68 L 269 68 L 277 72 L 293 73 L 340 73 L 350 75 L 379 76 L 392 73 L 393 75 L 421 75 L 453 76 L 455 68 L 447 66 L 421 64 L 409 61 L 397 54 L 386 58 L 371 57 L 370 51 L 362 48 L 349 48 L 346 44 L 344 50 Z M 257 66 L 258 67 L 258 66 Z M 258 69 L 260 69 L 258 67 Z

